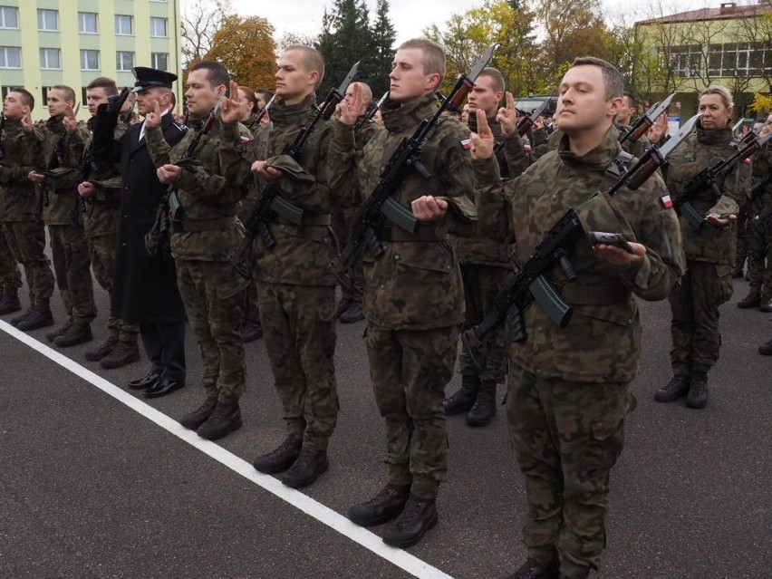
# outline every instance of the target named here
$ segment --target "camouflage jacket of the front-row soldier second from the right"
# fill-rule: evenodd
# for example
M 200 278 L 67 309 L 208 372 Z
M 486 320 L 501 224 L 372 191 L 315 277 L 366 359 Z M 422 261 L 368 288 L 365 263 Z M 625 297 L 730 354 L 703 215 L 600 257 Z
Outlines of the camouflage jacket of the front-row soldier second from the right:
M 381 114 L 386 130 L 376 133 L 361 153 L 354 148 L 352 128 L 338 123 L 330 145 L 331 182 L 355 168 L 360 190 L 369 197 L 400 142 L 435 111 L 433 94 L 402 106 L 385 101 Z M 405 207 L 422 195 L 442 197 L 448 200 L 449 211 L 436 224 L 420 225 L 434 240 L 384 239 L 381 257 L 365 256 L 364 310 L 370 323 L 393 330 L 429 330 L 463 322 L 464 290 L 449 233 L 469 227 L 477 216 L 469 197 L 474 171 L 462 144 L 468 136 L 460 121 L 441 121 L 429 133 L 420 158 L 432 177 L 424 180 L 411 171 L 395 194 Z M 399 235 L 399 227 L 386 227 Z

